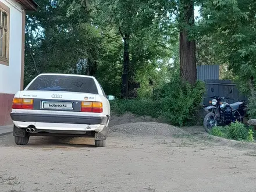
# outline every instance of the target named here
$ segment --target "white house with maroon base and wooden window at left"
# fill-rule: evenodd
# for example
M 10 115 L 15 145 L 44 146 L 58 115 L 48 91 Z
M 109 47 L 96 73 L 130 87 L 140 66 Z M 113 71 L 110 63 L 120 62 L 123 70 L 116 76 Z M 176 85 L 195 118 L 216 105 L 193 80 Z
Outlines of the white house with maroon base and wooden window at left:
M 15 93 L 23 89 L 26 10 L 33 0 L 0 0 L 0 126 L 12 124 Z

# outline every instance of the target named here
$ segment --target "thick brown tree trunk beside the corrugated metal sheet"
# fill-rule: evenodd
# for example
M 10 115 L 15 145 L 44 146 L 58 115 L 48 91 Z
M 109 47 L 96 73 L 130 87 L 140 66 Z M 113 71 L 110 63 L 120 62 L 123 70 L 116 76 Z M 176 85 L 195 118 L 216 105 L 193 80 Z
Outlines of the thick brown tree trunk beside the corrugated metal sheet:
M 197 81 L 195 41 L 189 40 L 189 29 L 195 25 L 193 0 L 181 1 L 180 9 L 180 77 L 193 86 Z

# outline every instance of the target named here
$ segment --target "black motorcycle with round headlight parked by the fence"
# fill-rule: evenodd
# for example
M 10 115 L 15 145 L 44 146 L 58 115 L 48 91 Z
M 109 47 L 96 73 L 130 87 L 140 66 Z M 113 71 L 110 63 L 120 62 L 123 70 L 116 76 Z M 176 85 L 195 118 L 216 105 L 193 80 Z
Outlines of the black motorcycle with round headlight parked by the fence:
M 233 104 L 223 102 L 224 99 L 231 99 L 228 97 L 211 97 L 211 105 L 204 108 L 207 113 L 204 117 L 204 129 L 208 133 L 212 127 L 219 125 L 229 125 L 232 122 L 243 122 L 246 115 L 247 101 L 238 101 Z

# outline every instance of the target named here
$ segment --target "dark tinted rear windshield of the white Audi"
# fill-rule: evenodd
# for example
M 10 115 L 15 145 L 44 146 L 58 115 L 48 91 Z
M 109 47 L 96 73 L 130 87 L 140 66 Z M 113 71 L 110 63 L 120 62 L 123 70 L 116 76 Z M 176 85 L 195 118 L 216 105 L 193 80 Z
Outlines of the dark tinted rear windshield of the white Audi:
M 43 75 L 37 77 L 27 90 L 70 91 L 98 94 L 93 78 L 78 76 Z

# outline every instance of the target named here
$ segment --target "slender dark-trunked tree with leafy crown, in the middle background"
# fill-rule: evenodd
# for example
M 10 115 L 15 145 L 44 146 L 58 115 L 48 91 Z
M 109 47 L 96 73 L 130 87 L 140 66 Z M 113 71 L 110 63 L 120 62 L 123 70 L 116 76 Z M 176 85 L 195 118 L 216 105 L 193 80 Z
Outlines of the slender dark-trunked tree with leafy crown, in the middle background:
M 111 25 L 115 27 L 123 40 L 122 98 L 129 98 L 133 89 L 138 87 L 138 84 L 134 81 L 136 75 L 130 60 L 131 40 L 140 31 L 146 32 L 151 27 L 153 29 L 155 29 L 154 26 L 159 27 L 162 16 L 166 12 L 167 4 L 171 9 L 172 3 L 166 1 L 99 0 L 98 2 L 98 10 L 101 12 L 98 20 L 101 20 L 101 24 L 104 26 Z M 143 38 L 143 36 L 140 36 L 140 38 Z M 139 50 L 137 49 L 137 51 Z

